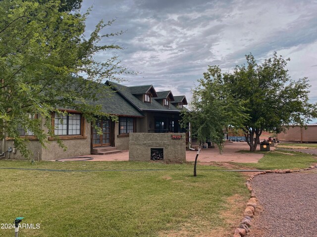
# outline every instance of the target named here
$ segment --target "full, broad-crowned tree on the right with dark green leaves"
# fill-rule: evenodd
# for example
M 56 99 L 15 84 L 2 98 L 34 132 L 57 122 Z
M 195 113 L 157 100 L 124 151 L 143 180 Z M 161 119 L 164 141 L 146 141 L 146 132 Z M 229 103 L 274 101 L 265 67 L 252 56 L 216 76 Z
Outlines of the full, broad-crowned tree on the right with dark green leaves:
M 309 103 L 309 80 L 290 78 L 289 58 L 274 52 L 258 64 L 250 53 L 247 65 L 236 66 L 226 83 L 235 99 L 246 102 L 242 112 L 249 116 L 240 128 L 250 151 L 256 151 L 262 132 L 279 133 L 289 124 L 304 125 L 317 116 L 317 105 Z

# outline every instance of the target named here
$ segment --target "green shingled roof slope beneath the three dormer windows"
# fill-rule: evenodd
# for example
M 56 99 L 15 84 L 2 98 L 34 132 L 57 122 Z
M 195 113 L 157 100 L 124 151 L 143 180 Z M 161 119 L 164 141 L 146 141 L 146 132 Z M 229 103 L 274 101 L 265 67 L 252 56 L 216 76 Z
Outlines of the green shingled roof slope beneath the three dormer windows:
M 125 86 L 112 81 L 106 81 L 106 84 L 111 85 L 115 90 L 117 90 L 126 100 L 128 100 L 132 105 L 135 106 L 139 111 L 165 111 L 165 112 L 180 112 L 181 109 L 176 108 L 174 105 L 170 104 L 169 107 L 163 106 L 154 98 L 152 98 L 152 103 L 144 103 L 139 100 L 133 93 L 136 93 L 136 87 L 143 86 Z M 145 86 L 144 86 L 145 87 Z M 132 88 L 132 89 L 131 89 Z M 149 87 L 148 87 L 149 89 Z M 131 92 L 132 90 L 132 92 Z M 139 90 L 141 91 L 141 89 Z M 143 90 L 145 91 L 145 90 Z M 147 92 L 146 90 L 145 92 Z

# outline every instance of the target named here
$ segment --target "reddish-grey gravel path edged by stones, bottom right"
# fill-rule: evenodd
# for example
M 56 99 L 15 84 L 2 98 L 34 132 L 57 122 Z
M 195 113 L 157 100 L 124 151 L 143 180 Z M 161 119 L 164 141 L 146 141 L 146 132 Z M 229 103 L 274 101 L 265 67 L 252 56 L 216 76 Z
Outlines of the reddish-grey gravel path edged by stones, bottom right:
M 258 175 L 251 184 L 260 211 L 249 237 L 317 237 L 315 171 Z

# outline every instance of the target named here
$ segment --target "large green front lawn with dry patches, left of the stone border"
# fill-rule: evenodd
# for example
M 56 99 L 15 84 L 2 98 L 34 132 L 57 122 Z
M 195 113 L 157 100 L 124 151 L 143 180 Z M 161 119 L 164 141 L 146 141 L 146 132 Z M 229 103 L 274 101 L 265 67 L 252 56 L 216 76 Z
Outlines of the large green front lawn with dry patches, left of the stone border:
M 213 166 L 159 162 L 38 162 L 0 161 L 0 167 L 49 169 L 167 169 L 159 171 L 49 172 L 0 170 L 0 223 L 25 217 L 22 223 L 40 223 L 40 229 L 22 229 L 21 237 L 156 237 L 229 236 L 232 225 L 224 216 L 235 209 L 239 223 L 248 198 L 240 173 L 209 171 Z M 0 230 L 10 237 L 14 230 Z M 185 233 L 185 234 L 184 234 Z

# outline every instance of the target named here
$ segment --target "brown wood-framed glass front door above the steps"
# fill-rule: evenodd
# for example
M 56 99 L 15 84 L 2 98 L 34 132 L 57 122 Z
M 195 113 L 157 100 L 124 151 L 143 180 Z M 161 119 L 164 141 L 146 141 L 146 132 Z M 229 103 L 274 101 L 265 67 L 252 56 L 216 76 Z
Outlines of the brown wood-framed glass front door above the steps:
M 98 134 L 93 128 L 93 147 L 105 147 L 111 145 L 111 121 L 109 119 L 99 119 L 97 126 L 102 129 L 102 134 Z

